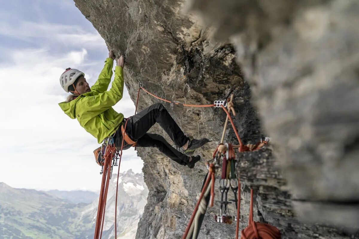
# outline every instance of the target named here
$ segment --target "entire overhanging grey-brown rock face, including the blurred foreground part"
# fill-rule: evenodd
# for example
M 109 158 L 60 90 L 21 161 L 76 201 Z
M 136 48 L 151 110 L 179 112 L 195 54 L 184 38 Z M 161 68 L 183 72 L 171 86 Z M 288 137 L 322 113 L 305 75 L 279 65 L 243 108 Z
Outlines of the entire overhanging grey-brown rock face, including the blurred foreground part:
M 236 89 L 233 119 L 243 142 L 256 143 L 263 135 L 273 142 L 237 153 L 241 228 L 247 226 L 253 186 L 254 219 L 278 227 L 282 238 L 359 238 L 342 228 L 359 221 L 357 1 L 75 4 L 116 56 L 126 55 L 132 100 L 139 81 L 162 98 L 186 104 L 212 104 Z M 139 110 L 155 102 L 141 92 Z M 194 169 L 157 149 L 137 148 L 149 189 L 140 239 L 181 238 L 225 119 L 220 108 L 164 105 L 189 137 L 212 142 L 196 150 L 202 159 Z M 160 127 L 151 132 L 171 142 Z M 238 143 L 230 126 L 225 140 Z M 234 206 L 229 210 L 235 214 Z M 234 238 L 234 225 L 214 221 L 218 211 L 218 205 L 208 209 L 199 238 Z

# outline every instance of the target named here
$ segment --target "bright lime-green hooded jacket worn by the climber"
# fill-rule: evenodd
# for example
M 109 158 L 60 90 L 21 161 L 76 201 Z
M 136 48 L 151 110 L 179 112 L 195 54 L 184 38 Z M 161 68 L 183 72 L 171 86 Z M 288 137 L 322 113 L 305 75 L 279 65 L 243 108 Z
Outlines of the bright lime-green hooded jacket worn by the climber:
M 99 144 L 104 138 L 113 134 L 123 120 L 123 114 L 112 109 L 123 95 L 123 69 L 116 66 L 115 79 L 111 89 L 106 91 L 112 77 L 113 59 L 107 58 L 105 62 L 90 92 L 80 95 L 69 103 L 59 104 L 65 114 L 71 119 L 76 118 L 87 132 L 97 138 Z

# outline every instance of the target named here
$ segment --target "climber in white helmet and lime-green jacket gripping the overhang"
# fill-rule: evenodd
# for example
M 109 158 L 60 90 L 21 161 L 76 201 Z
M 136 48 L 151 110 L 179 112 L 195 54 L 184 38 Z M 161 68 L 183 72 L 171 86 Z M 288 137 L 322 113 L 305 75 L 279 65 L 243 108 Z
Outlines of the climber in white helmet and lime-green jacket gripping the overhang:
M 111 89 L 106 91 L 111 81 L 114 59 L 115 55 L 109 51 L 105 66 L 91 88 L 86 82 L 83 72 L 67 68 L 60 77 L 60 84 L 66 92 L 71 92 L 71 95 L 65 102 L 59 104 L 61 109 L 71 119 L 76 118 L 87 132 L 97 138 L 98 143 L 113 135 L 116 148 L 121 148 L 121 125 L 125 125 L 127 120 L 125 140 L 129 136 L 130 140 L 136 142 L 136 147 L 157 147 L 160 152 L 173 161 L 193 168 L 195 163 L 200 160 L 200 156 L 192 157 L 185 153 L 193 152 L 194 149 L 208 143 L 209 140 L 206 138 L 190 140 L 162 104 L 153 104 L 127 119 L 112 108 L 122 98 L 125 57 L 118 58 L 115 79 Z M 161 135 L 147 133 L 156 122 L 183 153 L 174 149 Z M 131 144 L 125 142 L 123 149 L 130 147 Z

